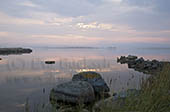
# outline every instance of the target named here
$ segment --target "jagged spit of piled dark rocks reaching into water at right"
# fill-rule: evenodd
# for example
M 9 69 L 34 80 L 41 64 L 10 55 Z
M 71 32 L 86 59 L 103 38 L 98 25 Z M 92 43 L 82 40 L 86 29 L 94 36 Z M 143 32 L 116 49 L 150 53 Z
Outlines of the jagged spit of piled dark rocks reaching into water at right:
M 133 55 L 128 55 L 127 57 L 121 56 L 120 58 L 117 58 L 117 62 L 121 64 L 128 64 L 128 68 L 150 75 L 159 73 L 162 71 L 165 64 L 170 63 L 158 60 L 145 60 L 143 57 L 139 58 Z

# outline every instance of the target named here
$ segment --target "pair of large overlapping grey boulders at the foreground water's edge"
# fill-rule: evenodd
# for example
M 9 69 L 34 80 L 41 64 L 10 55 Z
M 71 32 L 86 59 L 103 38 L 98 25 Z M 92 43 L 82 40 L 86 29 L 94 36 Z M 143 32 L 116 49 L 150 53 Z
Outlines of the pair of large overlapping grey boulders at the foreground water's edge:
M 93 104 L 101 97 L 108 97 L 109 91 L 109 87 L 99 73 L 81 72 L 75 74 L 72 81 L 53 88 L 50 93 L 50 102 L 57 108 L 62 108 L 61 104 Z M 62 112 L 66 112 L 64 110 Z

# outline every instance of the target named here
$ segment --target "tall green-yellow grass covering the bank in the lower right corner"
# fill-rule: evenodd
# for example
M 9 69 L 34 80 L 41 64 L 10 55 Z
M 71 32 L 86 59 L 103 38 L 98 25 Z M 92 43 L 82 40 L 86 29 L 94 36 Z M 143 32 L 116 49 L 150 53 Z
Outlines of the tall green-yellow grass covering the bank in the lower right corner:
M 170 112 L 170 65 L 144 82 L 138 96 L 114 103 L 103 105 L 100 112 Z

